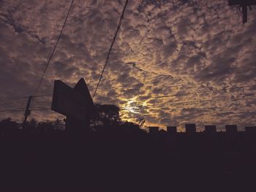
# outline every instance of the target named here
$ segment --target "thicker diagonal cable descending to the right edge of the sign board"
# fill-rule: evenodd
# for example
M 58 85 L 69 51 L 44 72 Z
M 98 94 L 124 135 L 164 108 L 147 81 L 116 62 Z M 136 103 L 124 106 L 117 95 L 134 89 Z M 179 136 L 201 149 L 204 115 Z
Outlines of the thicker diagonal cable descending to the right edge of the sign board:
M 105 61 L 105 65 L 104 65 L 104 67 L 103 67 L 103 69 L 102 69 L 102 74 L 100 74 L 100 77 L 99 77 L 99 82 L 102 80 L 103 73 L 104 73 L 105 68 L 106 68 L 106 66 L 107 66 L 107 64 L 108 64 L 109 56 L 110 56 L 112 47 L 113 47 L 113 45 L 114 45 L 114 43 L 115 43 L 115 41 L 116 41 L 116 37 L 117 37 L 118 31 L 119 31 L 119 29 L 120 29 L 120 27 L 121 27 L 121 23 L 122 23 L 123 18 L 124 18 L 124 12 L 125 12 L 125 9 L 127 8 L 128 1 L 129 1 L 129 0 L 126 0 L 126 1 L 125 1 L 124 9 L 123 9 L 123 12 L 122 12 L 122 14 L 121 14 L 121 17 L 120 17 L 120 20 L 119 20 L 119 23 L 118 23 L 118 26 L 117 26 L 115 36 L 113 37 L 113 40 L 112 40 L 112 42 L 111 42 L 110 48 L 109 48 L 109 50 L 108 50 L 108 55 L 107 55 L 107 58 L 106 58 L 106 61 Z M 97 84 L 97 86 L 96 86 L 96 88 L 95 88 L 94 95 L 92 96 L 92 98 L 94 98 L 94 96 L 95 96 L 95 94 L 96 94 L 96 92 L 97 92 L 97 89 L 98 89 L 98 87 L 99 87 L 99 82 L 98 82 L 98 84 Z

